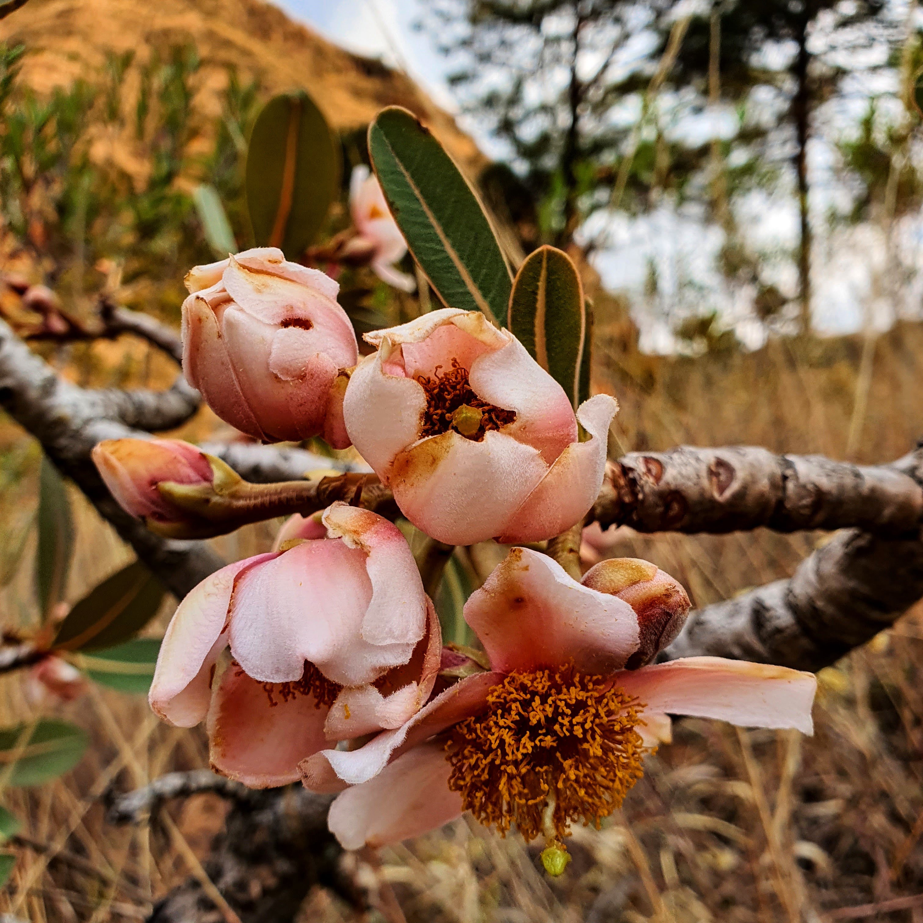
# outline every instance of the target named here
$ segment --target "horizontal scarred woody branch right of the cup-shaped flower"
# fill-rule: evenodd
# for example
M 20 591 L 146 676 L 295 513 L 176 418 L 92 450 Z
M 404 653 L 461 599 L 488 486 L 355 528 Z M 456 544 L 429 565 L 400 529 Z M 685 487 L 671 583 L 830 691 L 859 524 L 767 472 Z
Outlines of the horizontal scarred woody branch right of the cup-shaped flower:
M 919 528 L 923 487 L 894 465 L 862 467 L 752 446 L 680 446 L 610 462 L 592 516 L 604 529 L 628 525 L 644 533 L 856 527 L 895 537 Z

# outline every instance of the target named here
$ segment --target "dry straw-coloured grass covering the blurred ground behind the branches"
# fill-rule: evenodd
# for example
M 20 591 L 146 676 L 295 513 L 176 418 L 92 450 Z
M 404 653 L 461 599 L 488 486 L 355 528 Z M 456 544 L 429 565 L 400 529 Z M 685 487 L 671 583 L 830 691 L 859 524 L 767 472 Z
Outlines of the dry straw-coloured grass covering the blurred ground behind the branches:
M 760 354 L 691 362 L 646 358 L 605 328 L 599 333 L 597 378 L 623 406 L 615 450 L 749 442 L 844 458 L 852 426 L 861 433 L 857 460 L 883 462 L 923 435 L 918 327 L 894 330 L 875 344 L 867 381 L 857 380 L 858 339 L 780 342 Z M 854 408 L 863 403 L 868 412 L 859 419 Z M 12 427 L 5 433 L 7 446 L 23 444 Z M 28 457 L 22 464 L 34 468 Z M 30 476 L 3 495 L 4 560 L 33 502 Z M 80 502 L 78 529 L 71 596 L 128 554 Z M 270 537 L 270 525 L 247 529 L 223 540 L 222 551 L 243 557 Z M 614 553 L 652 558 L 701 605 L 787 575 L 819 538 L 625 533 Z M 30 541 L 0 593 L 5 624 L 30 611 Z M 923 893 L 921 663 L 923 619 L 911 613 L 821 673 L 813 738 L 677 724 L 675 742 L 649 759 L 624 814 L 601 831 L 575 832 L 574 861 L 559 881 L 545 878 L 536 850 L 517 836 L 500 839 L 464 819 L 384 850 L 378 870 L 356 860 L 357 870 L 388 882 L 410 923 L 919 923 L 923 896 L 900 898 Z M 3 677 L 0 696 L 4 723 L 34 714 L 21 677 Z M 43 851 L 17 847 L 0 913 L 32 923 L 143 918 L 151 899 L 197 872 L 196 857 L 219 829 L 222 805 L 197 797 L 174 805 L 165 825 L 114 829 L 103 821 L 99 796 L 113 782 L 142 785 L 168 770 L 205 765 L 204 739 L 198 730 L 159 724 L 144 701 L 103 689 L 55 711 L 90 729 L 93 747 L 59 783 L 4 794 Z M 859 905 L 876 906 L 837 914 Z M 312 895 L 303 917 L 355 918 L 322 892 Z

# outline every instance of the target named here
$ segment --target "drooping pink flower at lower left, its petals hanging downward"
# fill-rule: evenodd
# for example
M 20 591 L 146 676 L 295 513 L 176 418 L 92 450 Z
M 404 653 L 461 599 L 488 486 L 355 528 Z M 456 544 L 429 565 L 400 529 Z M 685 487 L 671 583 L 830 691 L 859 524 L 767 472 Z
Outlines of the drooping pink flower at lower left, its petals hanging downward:
M 326 538 L 237 561 L 177 608 L 150 705 L 207 720 L 212 766 L 253 787 L 298 778 L 330 741 L 401 726 L 426 701 L 441 636 L 400 531 L 335 503 Z

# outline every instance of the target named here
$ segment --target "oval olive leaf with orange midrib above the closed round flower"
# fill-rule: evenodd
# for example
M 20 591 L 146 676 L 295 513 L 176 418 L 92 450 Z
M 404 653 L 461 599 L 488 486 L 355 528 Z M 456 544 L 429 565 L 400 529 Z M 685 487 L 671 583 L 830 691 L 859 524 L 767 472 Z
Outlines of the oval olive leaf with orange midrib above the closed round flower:
M 257 117 L 246 156 L 246 204 L 257 246 L 300 257 L 340 192 L 339 142 L 304 90 L 283 93 Z

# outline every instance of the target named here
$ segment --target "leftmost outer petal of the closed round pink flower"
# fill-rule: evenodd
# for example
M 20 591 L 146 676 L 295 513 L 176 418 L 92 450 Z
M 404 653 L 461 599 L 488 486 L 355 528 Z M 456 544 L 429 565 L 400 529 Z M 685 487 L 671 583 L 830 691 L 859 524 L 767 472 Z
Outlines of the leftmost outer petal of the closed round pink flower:
M 183 371 L 222 420 L 253 438 L 266 437 L 237 382 L 218 319 L 195 295 L 183 302 Z

